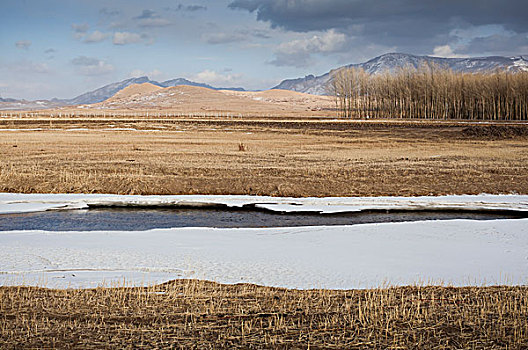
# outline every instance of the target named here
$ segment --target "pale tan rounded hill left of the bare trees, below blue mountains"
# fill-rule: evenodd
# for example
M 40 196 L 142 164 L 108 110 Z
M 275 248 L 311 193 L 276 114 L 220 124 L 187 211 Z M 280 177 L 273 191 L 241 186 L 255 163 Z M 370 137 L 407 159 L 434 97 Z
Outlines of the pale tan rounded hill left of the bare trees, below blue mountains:
M 0 110 L 7 106 L 2 106 Z M 337 115 L 330 96 L 316 96 L 288 90 L 227 91 L 194 86 L 161 89 L 152 84 L 133 84 L 109 99 L 95 104 L 57 107 L 40 111 L 3 111 L 20 116 L 100 116 L 168 117 L 196 116 L 276 116 L 303 117 Z

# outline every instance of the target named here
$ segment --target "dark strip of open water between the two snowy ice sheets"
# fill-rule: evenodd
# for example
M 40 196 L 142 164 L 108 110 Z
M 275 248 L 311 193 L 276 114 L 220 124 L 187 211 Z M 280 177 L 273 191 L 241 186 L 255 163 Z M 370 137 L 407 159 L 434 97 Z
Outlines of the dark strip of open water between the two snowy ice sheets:
M 527 218 L 528 212 L 496 210 L 367 210 L 354 213 L 282 213 L 244 208 L 96 207 L 0 215 L 0 231 L 144 231 L 173 227 L 258 228 L 356 225 L 422 220 Z

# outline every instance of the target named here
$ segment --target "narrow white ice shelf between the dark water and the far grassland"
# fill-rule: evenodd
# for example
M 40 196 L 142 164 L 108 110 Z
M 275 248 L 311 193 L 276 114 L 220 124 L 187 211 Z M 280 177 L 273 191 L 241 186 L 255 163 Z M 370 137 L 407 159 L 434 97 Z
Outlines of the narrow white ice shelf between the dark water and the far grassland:
M 526 195 L 462 195 L 439 197 L 332 197 L 285 198 L 263 196 L 121 196 L 102 194 L 12 194 L 0 193 L 0 214 L 89 205 L 160 206 L 224 204 L 230 207 L 255 204 L 275 211 L 324 213 L 368 209 L 474 209 L 528 211 Z

